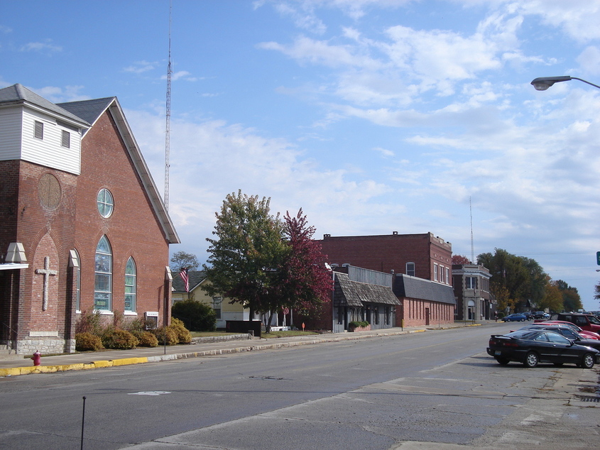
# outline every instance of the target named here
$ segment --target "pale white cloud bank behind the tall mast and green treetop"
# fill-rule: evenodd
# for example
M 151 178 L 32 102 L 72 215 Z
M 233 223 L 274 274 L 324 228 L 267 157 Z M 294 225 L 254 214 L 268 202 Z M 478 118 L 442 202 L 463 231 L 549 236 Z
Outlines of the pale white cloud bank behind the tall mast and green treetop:
M 141 111 L 126 114 L 155 182 L 161 186 L 164 119 Z M 391 191 L 382 182 L 353 179 L 346 170 L 320 168 L 282 139 L 265 138 L 251 128 L 224 121 L 172 119 L 169 175 L 169 213 L 186 246 L 201 249 L 214 226 L 214 212 L 227 194 L 239 189 L 271 197 L 273 212 L 297 212 L 302 207 L 320 231 L 351 232 L 356 217 L 402 209 L 378 202 Z M 197 241 L 199 236 L 202 242 Z

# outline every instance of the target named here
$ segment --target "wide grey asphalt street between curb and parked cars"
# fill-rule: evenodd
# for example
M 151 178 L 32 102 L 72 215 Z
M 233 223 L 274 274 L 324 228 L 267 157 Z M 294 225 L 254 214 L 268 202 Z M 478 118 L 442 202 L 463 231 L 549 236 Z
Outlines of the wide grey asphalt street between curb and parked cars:
M 0 446 L 80 448 L 85 396 L 85 449 L 594 448 L 596 368 L 500 366 L 508 328 L 1 378 Z

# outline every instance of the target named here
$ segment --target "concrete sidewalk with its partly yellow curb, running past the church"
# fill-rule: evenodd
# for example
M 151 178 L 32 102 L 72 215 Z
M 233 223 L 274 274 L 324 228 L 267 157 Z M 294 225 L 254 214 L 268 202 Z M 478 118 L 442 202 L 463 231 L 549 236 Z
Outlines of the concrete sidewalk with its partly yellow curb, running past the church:
M 82 371 L 93 368 L 126 366 L 129 364 L 156 363 L 174 361 L 183 358 L 198 358 L 201 356 L 225 355 L 258 351 L 282 349 L 302 345 L 322 344 L 325 342 L 365 339 L 376 336 L 395 336 L 398 334 L 435 331 L 437 329 L 457 328 L 462 326 L 479 326 L 481 323 L 455 323 L 442 326 L 411 326 L 405 328 L 378 329 L 354 333 L 314 334 L 309 336 L 293 336 L 285 338 L 252 338 L 244 334 L 234 336 L 236 339 L 227 341 L 199 341 L 193 344 L 177 346 L 158 346 L 153 348 L 139 347 L 132 350 L 107 350 L 86 353 L 70 353 L 57 356 L 43 356 L 40 366 L 33 366 L 31 359 L 9 358 L 0 359 L 0 377 L 28 375 L 30 373 L 54 373 L 61 371 Z

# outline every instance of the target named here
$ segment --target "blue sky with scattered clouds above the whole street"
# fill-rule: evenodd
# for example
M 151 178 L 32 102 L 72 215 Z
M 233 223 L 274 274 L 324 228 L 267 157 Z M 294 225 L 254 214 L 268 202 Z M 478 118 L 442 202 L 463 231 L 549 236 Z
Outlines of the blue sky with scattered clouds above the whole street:
M 0 87 L 116 96 L 164 191 L 169 1 L 0 3 Z M 593 300 L 600 2 L 173 0 L 169 212 L 206 258 L 241 189 L 315 237 L 426 233 Z M 469 199 L 471 209 L 469 208 Z

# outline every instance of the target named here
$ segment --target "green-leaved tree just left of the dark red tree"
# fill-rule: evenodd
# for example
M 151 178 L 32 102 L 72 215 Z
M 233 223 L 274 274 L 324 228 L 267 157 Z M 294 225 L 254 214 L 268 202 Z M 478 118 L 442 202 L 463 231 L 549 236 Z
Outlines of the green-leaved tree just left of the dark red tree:
M 270 212 L 271 199 L 228 194 L 209 242 L 203 265 L 209 295 L 224 295 L 254 312 L 265 314 L 278 306 L 277 271 L 288 253 L 283 222 Z

